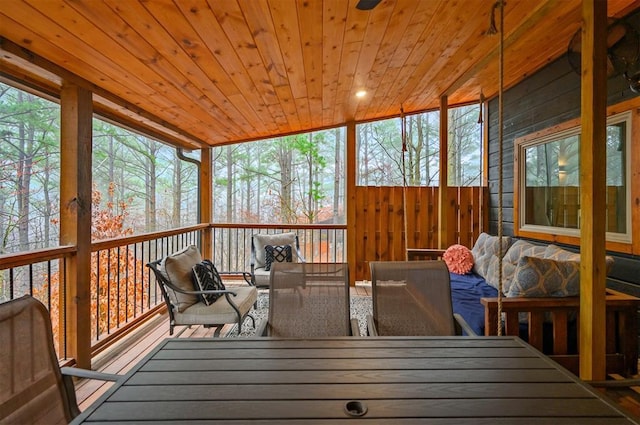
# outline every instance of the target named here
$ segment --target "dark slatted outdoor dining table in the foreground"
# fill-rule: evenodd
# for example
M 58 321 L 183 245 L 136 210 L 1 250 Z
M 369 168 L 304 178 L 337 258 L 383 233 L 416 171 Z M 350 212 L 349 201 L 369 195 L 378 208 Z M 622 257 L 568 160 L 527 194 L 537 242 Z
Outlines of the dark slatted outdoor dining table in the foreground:
M 347 424 L 365 410 L 372 424 L 637 423 L 514 337 L 167 339 L 76 423 Z

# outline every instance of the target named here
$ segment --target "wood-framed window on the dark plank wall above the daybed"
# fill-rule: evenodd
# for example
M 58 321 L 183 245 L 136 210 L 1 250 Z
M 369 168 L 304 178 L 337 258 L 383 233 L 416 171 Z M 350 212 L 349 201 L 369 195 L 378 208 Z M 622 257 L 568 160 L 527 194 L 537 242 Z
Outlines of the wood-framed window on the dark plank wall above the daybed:
M 607 240 L 630 242 L 631 113 L 607 121 Z M 580 127 L 516 141 L 520 231 L 579 236 Z

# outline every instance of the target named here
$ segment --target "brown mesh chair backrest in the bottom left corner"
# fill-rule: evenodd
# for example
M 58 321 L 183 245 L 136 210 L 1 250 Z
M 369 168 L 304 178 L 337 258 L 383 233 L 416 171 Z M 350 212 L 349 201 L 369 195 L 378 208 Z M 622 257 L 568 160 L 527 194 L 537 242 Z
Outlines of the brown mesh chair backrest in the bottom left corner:
M 79 414 L 40 301 L 26 295 L 0 304 L 0 346 L 0 422 L 66 424 Z

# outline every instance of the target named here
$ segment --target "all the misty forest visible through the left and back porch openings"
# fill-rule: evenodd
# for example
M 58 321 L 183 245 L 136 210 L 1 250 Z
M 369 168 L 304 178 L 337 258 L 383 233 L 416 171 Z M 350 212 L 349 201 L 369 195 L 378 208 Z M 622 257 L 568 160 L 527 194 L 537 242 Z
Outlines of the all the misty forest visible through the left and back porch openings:
M 449 112 L 449 185 L 480 184 L 478 105 Z M 360 124 L 357 184 L 438 185 L 439 112 Z M 60 107 L 0 84 L 0 254 L 58 245 Z M 213 149 L 214 222 L 344 223 L 345 128 Z M 198 152 L 189 154 L 198 161 Z M 132 234 L 198 221 L 198 170 L 175 148 L 94 119 L 93 189 Z M 94 239 L 100 232 L 93 234 Z

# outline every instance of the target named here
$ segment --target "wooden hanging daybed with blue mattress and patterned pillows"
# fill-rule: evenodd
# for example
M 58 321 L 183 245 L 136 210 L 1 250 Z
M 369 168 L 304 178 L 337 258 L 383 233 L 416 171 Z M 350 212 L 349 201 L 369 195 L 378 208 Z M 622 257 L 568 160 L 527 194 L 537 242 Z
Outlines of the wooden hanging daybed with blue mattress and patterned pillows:
M 497 236 L 481 234 L 471 250 L 473 269 L 450 273 L 453 310 L 479 335 L 497 334 L 498 243 Z M 580 255 L 510 237 L 502 243 L 503 334 L 520 336 L 578 373 Z M 446 251 L 439 255 L 451 264 Z M 607 257 L 607 268 L 612 264 Z M 607 289 L 606 305 L 607 373 L 637 374 L 640 299 Z

